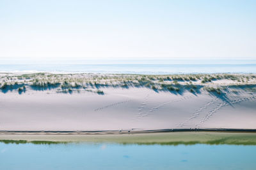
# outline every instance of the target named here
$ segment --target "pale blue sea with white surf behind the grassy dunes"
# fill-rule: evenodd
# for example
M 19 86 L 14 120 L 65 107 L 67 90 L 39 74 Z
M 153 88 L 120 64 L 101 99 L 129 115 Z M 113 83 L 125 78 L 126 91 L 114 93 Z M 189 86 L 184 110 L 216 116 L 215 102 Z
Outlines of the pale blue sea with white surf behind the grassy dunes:
M 256 60 L 29 60 L 1 61 L 0 71 L 83 73 L 188 74 L 256 73 Z

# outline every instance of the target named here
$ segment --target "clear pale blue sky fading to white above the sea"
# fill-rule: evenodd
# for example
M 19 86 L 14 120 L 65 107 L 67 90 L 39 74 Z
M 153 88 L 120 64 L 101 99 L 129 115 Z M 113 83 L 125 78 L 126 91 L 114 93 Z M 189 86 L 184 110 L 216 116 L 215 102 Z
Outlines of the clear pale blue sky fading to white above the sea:
M 0 59 L 256 59 L 256 1 L 1 0 Z

